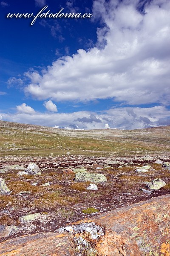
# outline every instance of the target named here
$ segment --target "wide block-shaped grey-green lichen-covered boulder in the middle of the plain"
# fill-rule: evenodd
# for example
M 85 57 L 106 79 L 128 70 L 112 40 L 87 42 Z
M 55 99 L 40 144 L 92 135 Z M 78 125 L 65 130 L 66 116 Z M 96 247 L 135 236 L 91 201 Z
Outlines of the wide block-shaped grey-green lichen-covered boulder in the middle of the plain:
M 77 172 L 75 174 L 75 181 L 77 182 L 91 181 L 93 183 L 99 183 L 99 182 L 106 182 L 107 178 L 102 173 Z

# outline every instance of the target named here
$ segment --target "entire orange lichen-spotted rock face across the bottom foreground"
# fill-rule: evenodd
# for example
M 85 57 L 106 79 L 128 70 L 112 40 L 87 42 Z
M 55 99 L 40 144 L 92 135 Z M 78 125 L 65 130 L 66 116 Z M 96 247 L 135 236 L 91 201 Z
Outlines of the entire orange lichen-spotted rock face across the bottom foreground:
M 122 207 L 92 219 L 74 223 L 95 223 L 104 236 L 91 243 L 93 256 L 170 255 L 170 195 Z M 71 225 L 71 224 L 69 224 Z M 0 256 L 74 256 L 80 233 L 40 233 L 22 236 L 0 244 Z M 82 236 L 88 242 L 88 234 Z M 81 239 L 79 239 L 81 240 Z M 96 253 L 95 253 L 96 252 Z

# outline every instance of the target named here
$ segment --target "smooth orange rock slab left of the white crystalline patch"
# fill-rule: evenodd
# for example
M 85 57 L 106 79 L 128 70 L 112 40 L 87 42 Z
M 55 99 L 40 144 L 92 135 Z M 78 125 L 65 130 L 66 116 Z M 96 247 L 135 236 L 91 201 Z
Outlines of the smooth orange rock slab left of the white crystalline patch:
M 9 239 L 0 244 L 0 256 L 72 256 L 70 233 L 39 233 Z

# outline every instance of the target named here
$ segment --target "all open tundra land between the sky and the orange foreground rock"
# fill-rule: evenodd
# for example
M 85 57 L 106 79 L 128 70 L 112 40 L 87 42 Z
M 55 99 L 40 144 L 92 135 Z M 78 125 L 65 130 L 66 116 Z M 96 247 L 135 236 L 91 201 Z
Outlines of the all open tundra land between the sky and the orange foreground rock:
M 0 179 L 10 191 L 0 190 L 0 241 L 170 193 L 169 126 L 62 133 L 1 121 L 0 129 Z M 161 186 L 148 184 L 155 179 Z

